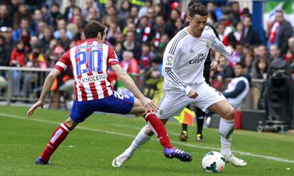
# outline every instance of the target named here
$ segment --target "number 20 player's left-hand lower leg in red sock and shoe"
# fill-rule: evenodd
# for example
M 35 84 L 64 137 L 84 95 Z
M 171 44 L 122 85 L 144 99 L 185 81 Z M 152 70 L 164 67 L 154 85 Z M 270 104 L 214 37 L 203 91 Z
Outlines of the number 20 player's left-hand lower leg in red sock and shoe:
M 68 123 L 67 123 L 68 121 L 69 121 L 69 119 L 67 119 L 67 121 L 61 123 L 60 126 L 58 126 L 58 128 L 55 129 L 52 136 L 50 137 L 50 141 L 47 143 L 45 149 L 43 150 L 43 152 L 40 154 L 40 156 L 36 160 L 36 165 L 50 164 L 49 159 L 50 159 L 51 155 L 54 153 L 56 148 L 58 148 L 60 143 L 62 143 L 62 141 L 65 140 L 65 138 L 67 137 L 67 134 L 70 133 L 72 128 L 74 128 L 73 126 L 72 126 L 72 128 L 70 128 L 70 126 L 68 126 Z M 76 126 L 76 124 L 75 124 L 75 126 Z

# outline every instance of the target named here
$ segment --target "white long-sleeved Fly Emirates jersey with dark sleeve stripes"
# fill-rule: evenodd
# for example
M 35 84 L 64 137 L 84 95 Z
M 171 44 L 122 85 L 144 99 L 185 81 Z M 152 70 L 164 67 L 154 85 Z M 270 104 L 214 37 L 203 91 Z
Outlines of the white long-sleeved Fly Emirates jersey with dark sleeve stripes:
M 179 31 L 170 40 L 163 55 L 165 91 L 180 89 L 188 94 L 191 87 L 205 82 L 204 63 L 210 48 L 223 55 L 232 55 L 232 51 L 217 39 L 209 26 L 205 26 L 200 38 L 190 35 L 187 27 Z

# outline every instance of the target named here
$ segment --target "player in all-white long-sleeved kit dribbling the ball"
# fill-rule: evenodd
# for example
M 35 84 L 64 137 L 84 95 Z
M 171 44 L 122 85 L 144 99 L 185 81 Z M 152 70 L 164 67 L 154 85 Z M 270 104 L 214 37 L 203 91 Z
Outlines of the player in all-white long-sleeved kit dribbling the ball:
M 235 110 L 221 93 L 205 83 L 203 77 L 204 62 L 209 48 L 227 56 L 232 55 L 233 49 L 225 47 L 217 40 L 212 28 L 205 26 L 205 6 L 194 4 L 189 11 L 189 26 L 179 31 L 165 48 L 162 70 L 165 94 L 158 105 L 158 118 L 166 123 L 170 117 L 178 116 L 188 104 L 195 104 L 202 111 L 208 110 L 219 114 L 222 116 L 219 123 L 221 153 L 227 163 L 245 166 L 244 160 L 236 158 L 231 153 Z M 148 126 L 143 127 L 131 146 L 114 160 L 119 160 L 119 165 L 124 165 L 135 150 L 146 143 L 152 135 Z

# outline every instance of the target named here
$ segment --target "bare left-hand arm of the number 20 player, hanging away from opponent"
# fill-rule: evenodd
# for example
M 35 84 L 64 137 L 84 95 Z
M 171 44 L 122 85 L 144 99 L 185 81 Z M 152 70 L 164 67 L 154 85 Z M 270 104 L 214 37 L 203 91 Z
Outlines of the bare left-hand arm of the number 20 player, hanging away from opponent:
M 50 91 L 50 88 L 51 88 L 55 78 L 58 77 L 58 75 L 60 75 L 60 73 L 61 73 L 60 70 L 58 70 L 56 68 L 53 68 L 53 70 L 51 70 L 51 72 L 46 77 L 45 82 L 43 84 L 43 89 L 40 94 L 40 98 L 38 99 L 38 101 L 35 104 L 33 104 L 33 106 L 31 106 L 31 109 L 28 110 L 28 113 L 26 114 L 27 116 L 33 115 L 33 111 L 35 111 L 35 109 L 38 108 L 38 106 L 43 108 L 46 95 Z

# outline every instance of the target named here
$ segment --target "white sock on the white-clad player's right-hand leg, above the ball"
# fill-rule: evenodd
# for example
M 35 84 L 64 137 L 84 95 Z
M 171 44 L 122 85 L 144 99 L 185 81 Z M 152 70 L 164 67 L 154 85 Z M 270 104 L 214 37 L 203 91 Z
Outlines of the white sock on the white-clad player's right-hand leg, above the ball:
M 223 118 L 220 119 L 219 122 L 219 133 L 221 135 L 221 153 L 222 155 L 231 154 L 231 143 L 233 138 L 235 121 L 227 121 Z

